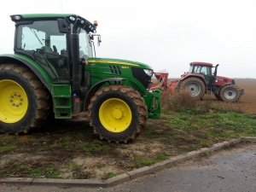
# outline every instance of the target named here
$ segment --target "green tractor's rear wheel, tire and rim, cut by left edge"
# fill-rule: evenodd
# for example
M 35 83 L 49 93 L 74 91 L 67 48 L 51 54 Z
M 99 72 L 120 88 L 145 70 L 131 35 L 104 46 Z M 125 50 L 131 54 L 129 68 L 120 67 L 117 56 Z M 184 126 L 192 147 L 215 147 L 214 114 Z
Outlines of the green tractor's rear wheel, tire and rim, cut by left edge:
M 26 67 L 0 66 L 0 131 L 19 134 L 39 127 L 49 113 L 49 94 Z

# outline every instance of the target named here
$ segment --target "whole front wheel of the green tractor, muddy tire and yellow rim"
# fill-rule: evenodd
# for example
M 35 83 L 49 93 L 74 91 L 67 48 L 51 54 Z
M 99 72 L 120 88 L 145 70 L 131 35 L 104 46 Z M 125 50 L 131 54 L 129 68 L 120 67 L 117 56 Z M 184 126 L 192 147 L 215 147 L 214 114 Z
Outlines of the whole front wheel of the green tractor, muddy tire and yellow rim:
M 89 105 L 90 125 L 101 139 L 127 143 L 143 131 L 147 107 L 131 87 L 111 85 L 96 91 Z

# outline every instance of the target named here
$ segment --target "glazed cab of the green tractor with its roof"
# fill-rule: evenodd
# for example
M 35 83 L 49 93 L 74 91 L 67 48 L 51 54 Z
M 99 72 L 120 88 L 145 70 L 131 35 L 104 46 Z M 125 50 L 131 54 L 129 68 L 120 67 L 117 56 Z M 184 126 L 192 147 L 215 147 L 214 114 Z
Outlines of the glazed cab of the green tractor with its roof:
M 62 17 L 61 17 L 62 16 Z M 55 83 L 68 83 L 71 63 L 93 56 L 90 33 L 96 25 L 77 15 L 12 15 L 16 23 L 15 54 L 41 64 Z M 78 21 L 79 20 L 79 21 Z M 73 38 L 73 34 L 78 34 Z M 78 74 L 73 74 L 77 76 Z

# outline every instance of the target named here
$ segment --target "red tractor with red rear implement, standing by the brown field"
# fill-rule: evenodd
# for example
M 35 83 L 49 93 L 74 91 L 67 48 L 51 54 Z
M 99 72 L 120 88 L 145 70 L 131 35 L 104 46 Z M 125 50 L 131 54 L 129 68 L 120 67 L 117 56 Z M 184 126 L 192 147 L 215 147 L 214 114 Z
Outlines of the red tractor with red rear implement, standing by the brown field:
M 218 65 L 213 67 L 207 62 L 191 62 L 188 73 L 184 73 L 177 81 L 167 85 L 168 73 L 154 73 L 160 83 L 155 87 L 165 87 L 168 92 L 173 90 L 189 90 L 191 96 L 200 100 L 206 93 L 213 93 L 218 100 L 236 102 L 244 90 L 238 88 L 234 79 L 217 76 Z

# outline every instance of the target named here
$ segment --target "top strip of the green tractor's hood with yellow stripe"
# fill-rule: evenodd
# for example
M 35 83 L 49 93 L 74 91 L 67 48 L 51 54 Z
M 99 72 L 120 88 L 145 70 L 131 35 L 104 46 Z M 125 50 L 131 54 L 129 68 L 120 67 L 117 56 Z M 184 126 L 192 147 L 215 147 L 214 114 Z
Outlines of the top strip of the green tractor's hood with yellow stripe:
M 147 64 L 137 61 L 127 61 L 127 60 L 119 60 L 119 59 L 110 59 L 110 58 L 89 58 L 89 63 L 99 63 L 99 64 L 107 64 L 107 65 L 122 65 L 127 67 L 138 67 L 143 69 L 152 69 Z

